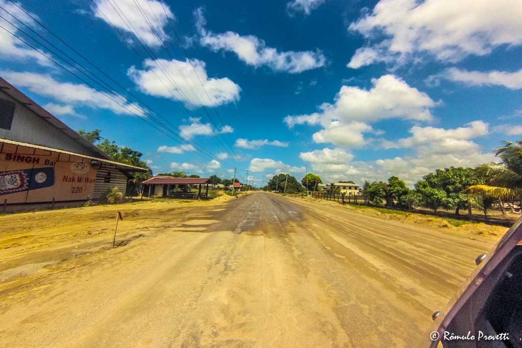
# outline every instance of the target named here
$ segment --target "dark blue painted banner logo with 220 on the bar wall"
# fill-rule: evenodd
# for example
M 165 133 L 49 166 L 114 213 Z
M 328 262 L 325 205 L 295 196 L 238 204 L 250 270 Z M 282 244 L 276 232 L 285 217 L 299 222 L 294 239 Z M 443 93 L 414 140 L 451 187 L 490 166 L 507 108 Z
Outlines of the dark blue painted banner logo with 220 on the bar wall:
M 53 167 L 0 172 L 0 195 L 35 190 L 53 185 Z

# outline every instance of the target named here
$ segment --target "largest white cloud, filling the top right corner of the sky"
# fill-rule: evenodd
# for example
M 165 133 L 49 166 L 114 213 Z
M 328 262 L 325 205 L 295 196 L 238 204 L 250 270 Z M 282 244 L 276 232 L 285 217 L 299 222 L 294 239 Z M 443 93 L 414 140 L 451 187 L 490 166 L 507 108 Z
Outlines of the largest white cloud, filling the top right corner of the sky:
M 501 45 L 522 44 L 522 6 L 511 0 L 381 0 L 349 29 L 369 42 L 349 67 L 419 59 L 429 53 L 442 62 L 486 55 Z M 384 39 L 383 39 L 384 37 Z

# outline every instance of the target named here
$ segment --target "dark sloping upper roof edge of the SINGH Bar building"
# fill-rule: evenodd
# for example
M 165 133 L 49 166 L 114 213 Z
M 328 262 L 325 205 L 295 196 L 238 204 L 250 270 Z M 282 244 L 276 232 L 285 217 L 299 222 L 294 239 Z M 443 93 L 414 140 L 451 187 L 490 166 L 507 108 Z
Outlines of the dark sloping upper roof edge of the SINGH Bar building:
M 32 99 L 27 97 L 27 95 L 23 94 L 20 90 L 18 90 L 16 87 L 11 85 L 9 82 L 4 80 L 2 77 L 0 77 L 0 88 L 5 93 L 9 94 L 11 97 L 22 103 L 24 106 L 28 107 L 31 111 L 33 111 L 35 114 L 43 118 L 45 121 L 52 124 L 54 127 L 60 129 L 70 138 L 73 138 L 76 142 L 78 142 L 81 146 L 87 148 L 89 151 L 92 151 L 94 154 L 99 155 L 100 158 L 104 158 L 106 160 L 112 160 L 108 154 L 104 153 L 100 149 L 98 149 L 96 146 L 92 145 L 89 141 L 82 138 L 76 131 L 69 128 L 65 123 L 60 121 L 58 118 L 56 118 L 54 115 L 52 115 L 47 110 L 43 109 L 40 105 L 38 105 L 36 102 L 34 102 Z

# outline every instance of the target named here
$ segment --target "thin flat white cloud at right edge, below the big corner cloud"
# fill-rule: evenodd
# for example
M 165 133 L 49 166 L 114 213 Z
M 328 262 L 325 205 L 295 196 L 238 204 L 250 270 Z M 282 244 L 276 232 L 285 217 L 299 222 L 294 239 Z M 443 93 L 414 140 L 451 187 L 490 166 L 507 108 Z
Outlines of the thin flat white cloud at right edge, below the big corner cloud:
M 507 71 L 467 71 L 449 68 L 441 74 L 426 79 L 428 83 L 438 85 L 439 79 L 462 82 L 468 86 L 503 86 L 509 89 L 522 89 L 522 69 L 509 73 Z

